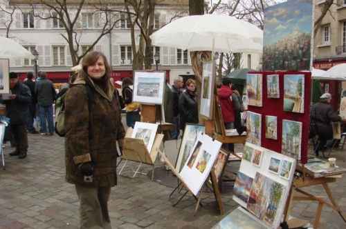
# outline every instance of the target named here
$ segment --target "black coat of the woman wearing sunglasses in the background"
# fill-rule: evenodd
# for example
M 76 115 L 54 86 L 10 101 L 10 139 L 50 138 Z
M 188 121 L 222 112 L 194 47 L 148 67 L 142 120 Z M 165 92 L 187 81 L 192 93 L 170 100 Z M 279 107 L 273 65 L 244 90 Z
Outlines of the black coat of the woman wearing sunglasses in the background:
M 181 93 L 179 97 L 180 129 L 184 130 L 185 123 L 198 123 L 198 101 L 197 94 L 192 96 L 188 90 Z

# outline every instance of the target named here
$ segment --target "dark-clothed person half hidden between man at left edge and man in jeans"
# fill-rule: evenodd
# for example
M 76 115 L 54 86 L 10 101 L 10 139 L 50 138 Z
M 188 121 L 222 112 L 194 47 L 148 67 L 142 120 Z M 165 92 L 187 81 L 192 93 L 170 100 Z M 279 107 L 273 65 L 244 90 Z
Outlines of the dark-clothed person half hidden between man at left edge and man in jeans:
M 33 72 L 28 72 L 26 74 L 26 77 L 28 77 L 28 79 L 24 81 L 23 83 L 26 86 L 28 86 L 31 93 L 31 102 L 29 103 L 29 112 L 28 112 L 28 121 L 26 122 L 26 130 L 28 130 L 30 134 L 38 134 L 39 132 L 35 130 L 35 127 L 33 125 L 34 119 L 36 117 L 36 104 L 37 104 L 37 98 L 35 95 L 35 77 Z

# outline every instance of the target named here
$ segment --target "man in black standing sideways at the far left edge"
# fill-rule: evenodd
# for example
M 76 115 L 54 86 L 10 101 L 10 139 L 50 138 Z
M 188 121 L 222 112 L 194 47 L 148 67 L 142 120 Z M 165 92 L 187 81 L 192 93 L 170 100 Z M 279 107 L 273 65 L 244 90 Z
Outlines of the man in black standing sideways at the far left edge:
M 30 89 L 19 82 L 15 72 L 10 72 L 9 99 L 0 97 L 0 103 L 6 104 L 6 117 L 10 118 L 10 127 L 17 143 L 16 150 L 10 156 L 18 156 L 19 159 L 26 158 L 28 152 L 28 133 L 26 122 L 28 121 L 28 106 L 31 101 Z

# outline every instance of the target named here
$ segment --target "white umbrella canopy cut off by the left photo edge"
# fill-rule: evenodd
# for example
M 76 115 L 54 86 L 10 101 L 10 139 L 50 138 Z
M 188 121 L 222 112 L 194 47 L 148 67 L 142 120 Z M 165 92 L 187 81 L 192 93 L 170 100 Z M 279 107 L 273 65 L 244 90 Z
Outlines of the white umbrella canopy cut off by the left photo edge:
M 0 37 L 0 59 L 35 59 L 34 55 L 16 41 Z

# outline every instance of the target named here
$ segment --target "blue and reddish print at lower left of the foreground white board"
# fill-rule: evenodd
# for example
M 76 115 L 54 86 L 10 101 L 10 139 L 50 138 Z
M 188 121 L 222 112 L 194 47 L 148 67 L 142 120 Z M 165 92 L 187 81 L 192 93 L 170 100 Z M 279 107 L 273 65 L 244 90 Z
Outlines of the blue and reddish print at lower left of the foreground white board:
M 248 177 L 243 172 L 238 172 L 237 178 L 235 179 L 235 186 L 233 188 L 233 195 L 245 204 L 248 203 L 248 197 L 250 196 L 252 185 L 253 178 Z

